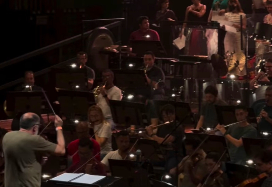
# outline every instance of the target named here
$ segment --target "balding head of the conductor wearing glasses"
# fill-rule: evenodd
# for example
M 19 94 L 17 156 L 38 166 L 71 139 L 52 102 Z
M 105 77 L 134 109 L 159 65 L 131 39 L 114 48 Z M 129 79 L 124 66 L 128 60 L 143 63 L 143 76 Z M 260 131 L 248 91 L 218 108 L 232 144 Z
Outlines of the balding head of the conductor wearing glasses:
M 37 129 L 40 125 L 40 117 L 35 113 L 25 113 L 20 118 L 20 128 L 25 130 L 35 130 L 34 134 L 38 134 Z M 37 126 L 37 129 L 34 129 Z

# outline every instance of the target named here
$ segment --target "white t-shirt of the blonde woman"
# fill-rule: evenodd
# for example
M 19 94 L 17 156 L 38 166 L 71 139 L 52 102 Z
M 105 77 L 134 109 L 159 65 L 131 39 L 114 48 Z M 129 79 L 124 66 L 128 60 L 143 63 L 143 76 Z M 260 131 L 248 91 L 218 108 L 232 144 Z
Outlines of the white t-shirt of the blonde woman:
M 95 125 L 93 128 L 93 131 L 96 132 L 96 135 L 99 136 L 100 138 L 108 138 L 106 143 L 104 144 L 104 146 L 101 147 L 101 154 L 108 154 L 110 151 L 112 151 L 112 127 L 111 127 L 111 125 L 108 122 L 104 122 L 99 125 Z

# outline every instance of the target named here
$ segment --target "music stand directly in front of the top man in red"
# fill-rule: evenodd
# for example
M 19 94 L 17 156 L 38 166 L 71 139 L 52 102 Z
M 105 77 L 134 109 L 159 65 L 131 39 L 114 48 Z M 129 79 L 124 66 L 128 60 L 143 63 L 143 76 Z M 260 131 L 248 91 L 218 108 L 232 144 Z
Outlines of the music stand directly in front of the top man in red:
M 155 40 L 130 40 L 132 52 L 143 56 L 145 52 L 152 51 L 156 57 L 167 57 L 160 41 Z

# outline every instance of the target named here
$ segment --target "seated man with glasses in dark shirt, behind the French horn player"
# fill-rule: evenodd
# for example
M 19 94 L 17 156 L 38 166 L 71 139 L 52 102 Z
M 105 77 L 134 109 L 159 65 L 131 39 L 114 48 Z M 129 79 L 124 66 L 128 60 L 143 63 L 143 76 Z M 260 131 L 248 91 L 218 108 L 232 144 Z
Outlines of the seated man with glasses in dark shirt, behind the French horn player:
M 81 51 L 77 53 L 76 58 L 77 65 L 79 66 L 79 68 L 86 68 L 88 78 L 88 89 L 91 90 L 96 74 L 92 68 L 86 66 L 86 62 L 88 61 L 88 54 L 86 52 Z

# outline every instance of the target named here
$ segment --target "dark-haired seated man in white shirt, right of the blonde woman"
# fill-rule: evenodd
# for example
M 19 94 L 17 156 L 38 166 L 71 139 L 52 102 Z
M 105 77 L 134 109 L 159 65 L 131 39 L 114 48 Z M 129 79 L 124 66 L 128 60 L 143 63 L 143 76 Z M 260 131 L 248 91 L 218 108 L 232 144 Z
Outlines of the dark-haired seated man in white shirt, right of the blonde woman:
M 109 172 L 109 163 L 108 159 L 113 160 L 124 160 L 129 151 L 129 135 L 127 131 L 120 131 L 116 133 L 116 144 L 118 149 L 116 151 L 109 152 L 101 161 L 102 164 L 104 164 L 105 171 Z

